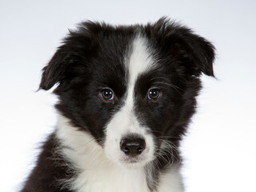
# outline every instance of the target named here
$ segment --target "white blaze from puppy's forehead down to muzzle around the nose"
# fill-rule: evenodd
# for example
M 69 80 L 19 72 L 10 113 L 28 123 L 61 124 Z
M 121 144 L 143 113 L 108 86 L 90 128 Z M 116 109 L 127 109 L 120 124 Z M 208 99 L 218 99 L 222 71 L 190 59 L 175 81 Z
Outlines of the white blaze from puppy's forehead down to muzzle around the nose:
M 134 114 L 134 86 L 138 76 L 154 65 L 154 59 L 148 48 L 146 38 L 138 35 L 132 43 L 131 53 L 126 58 L 126 70 L 128 70 L 127 96 L 124 106 L 106 125 L 106 142 L 104 150 L 110 160 L 122 163 L 125 154 L 120 150 L 120 142 L 126 134 L 139 134 L 146 142 L 146 149 L 140 154 L 141 164 L 150 162 L 154 158 L 154 141 L 151 134 L 147 134 L 146 126 L 141 126 L 136 114 Z

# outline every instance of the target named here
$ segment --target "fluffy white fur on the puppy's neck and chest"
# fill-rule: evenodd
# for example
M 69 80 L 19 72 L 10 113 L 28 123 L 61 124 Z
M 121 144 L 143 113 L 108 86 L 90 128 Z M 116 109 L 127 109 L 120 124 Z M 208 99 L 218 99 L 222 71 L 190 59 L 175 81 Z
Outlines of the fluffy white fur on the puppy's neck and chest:
M 77 192 L 150 192 L 143 167 L 124 167 L 106 158 L 102 146 L 90 134 L 70 126 L 59 116 L 57 137 L 62 153 L 79 170 L 66 185 Z M 178 171 L 162 174 L 157 192 L 182 192 Z M 154 191 L 155 192 L 155 191 Z

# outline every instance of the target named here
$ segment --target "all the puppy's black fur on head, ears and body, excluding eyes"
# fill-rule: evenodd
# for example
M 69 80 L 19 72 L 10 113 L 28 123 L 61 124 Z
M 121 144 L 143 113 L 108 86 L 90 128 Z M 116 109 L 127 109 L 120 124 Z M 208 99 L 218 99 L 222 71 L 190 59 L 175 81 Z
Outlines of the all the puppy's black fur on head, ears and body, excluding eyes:
M 136 114 L 142 117 L 142 124 L 150 127 L 158 148 L 162 143 L 159 138 L 167 139 L 178 147 L 195 112 L 195 98 L 201 89 L 200 75 L 214 77 L 214 46 L 186 26 L 166 18 L 146 26 L 82 22 L 78 30 L 71 31 L 64 39 L 63 45 L 44 67 L 40 89 L 50 90 L 58 84 L 54 90 L 59 98 L 58 111 L 74 126 L 90 132 L 97 141 L 101 141 L 105 137 L 104 125 L 124 104 L 128 74 L 123 61 L 138 33 L 147 38 L 158 67 L 138 78 L 135 86 Z M 164 93 L 159 102 L 145 99 L 147 91 L 154 86 Z M 102 102 L 98 93 L 104 87 L 111 87 L 118 99 L 111 103 Z M 101 142 L 99 144 L 102 145 Z M 62 159 L 54 158 L 56 145 L 58 139 L 52 134 L 42 147 L 37 166 L 22 191 L 68 191 L 65 187 L 58 189 L 58 181 L 71 178 L 75 173 L 68 171 L 67 166 L 56 166 Z M 156 154 L 158 152 L 155 151 Z M 164 159 L 155 160 L 159 170 L 150 168 L 154 170 L 150 176 L 154 178 L 154 184 L 150 189 L 157 188 L 159 171 L 164 171 L 170 162 L 181 160 L 178 150 L 174 151 L 174 157 L 168 153 L 162 156 Z

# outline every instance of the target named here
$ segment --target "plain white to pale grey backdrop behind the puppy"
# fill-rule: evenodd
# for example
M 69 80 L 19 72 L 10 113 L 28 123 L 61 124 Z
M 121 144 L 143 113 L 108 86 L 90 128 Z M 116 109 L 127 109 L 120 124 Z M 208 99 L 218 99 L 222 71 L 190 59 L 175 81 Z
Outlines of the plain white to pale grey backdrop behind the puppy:
M 218 80 L 202 77 L 198 114 L 182 143 L 186 191 L 256 191 L 255 1 L 0 1 L 0 188 L 17 191 L 54 129 L 56 98 L 41 69 L 68 28 L 174 18 L 214 43 Z

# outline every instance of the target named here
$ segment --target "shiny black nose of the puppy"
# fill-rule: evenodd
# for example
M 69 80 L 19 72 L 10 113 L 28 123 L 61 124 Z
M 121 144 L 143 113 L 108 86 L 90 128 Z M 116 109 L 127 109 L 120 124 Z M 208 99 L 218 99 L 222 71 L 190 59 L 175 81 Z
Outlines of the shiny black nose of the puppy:
M 143 138 L 123 138 L 120 142 L 120 147 L 125 154 L 134 157 L 145 150 L 146 143 Z

